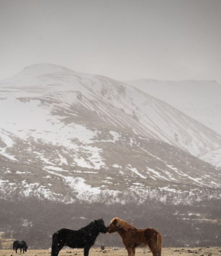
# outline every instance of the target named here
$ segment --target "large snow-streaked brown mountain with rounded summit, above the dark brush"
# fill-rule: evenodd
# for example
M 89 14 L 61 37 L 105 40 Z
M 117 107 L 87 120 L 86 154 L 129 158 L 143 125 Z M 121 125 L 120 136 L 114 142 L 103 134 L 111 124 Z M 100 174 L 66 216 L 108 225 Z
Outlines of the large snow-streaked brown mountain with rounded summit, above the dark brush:
M 221 197 L 220 172 L 195 157 L 221 135 L 122 82 L 37 64 L 0 81 L 0 108 L 2 198 Z

